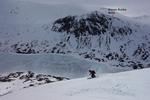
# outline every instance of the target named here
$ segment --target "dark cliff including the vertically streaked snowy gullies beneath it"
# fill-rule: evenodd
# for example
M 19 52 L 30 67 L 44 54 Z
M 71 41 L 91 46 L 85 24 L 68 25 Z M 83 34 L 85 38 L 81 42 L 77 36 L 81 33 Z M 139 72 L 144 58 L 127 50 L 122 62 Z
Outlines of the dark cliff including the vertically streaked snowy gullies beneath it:
M 118 40 L 132 34 L 132 28 L 119 18 L 102 14 L 98 11 L 82 16 L 67 16 L 53 23 L 52 31 L 65 32 L 76 38 L 76 48 L 92 48 L 96 43 L 101 48 L 110 49 L 111 40 Z M 95 37 L 96 42 L 93 43 Z M 104 48 L 104 46 L 103 46 Z

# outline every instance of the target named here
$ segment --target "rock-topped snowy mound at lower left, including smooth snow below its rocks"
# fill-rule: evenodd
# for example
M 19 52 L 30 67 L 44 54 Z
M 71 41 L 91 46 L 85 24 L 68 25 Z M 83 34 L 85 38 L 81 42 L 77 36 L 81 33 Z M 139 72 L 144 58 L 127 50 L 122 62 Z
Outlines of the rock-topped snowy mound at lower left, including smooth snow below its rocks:
M 14 91 L 62 80 L 68 80 L 68 78 L 37 74 L 31 71 L 2 75 L 0 76 L 0 96 L 7 95 Z

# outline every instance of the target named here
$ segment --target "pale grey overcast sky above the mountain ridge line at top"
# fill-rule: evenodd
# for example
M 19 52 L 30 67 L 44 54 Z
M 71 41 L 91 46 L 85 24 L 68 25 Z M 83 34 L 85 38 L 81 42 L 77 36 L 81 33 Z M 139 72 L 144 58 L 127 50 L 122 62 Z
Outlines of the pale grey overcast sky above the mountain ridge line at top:
M 150 0 L 24 0 L 41 3 L 71 3 L 87 6 L 89 9 L 100 7 L 125 8 L 122 12 L 126 16 L 150 15 Z

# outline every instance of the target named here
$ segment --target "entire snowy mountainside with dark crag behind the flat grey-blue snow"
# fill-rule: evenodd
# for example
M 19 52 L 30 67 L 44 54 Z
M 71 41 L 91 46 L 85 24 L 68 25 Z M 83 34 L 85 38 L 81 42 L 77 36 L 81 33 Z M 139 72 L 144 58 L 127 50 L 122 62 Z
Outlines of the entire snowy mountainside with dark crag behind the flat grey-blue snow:
M 32 0 L 31 0 L 32 1 Z M 58 53 L 116 66 L 149 67 L 150 27 L 107 9 L 0 1 L 0 52 Z

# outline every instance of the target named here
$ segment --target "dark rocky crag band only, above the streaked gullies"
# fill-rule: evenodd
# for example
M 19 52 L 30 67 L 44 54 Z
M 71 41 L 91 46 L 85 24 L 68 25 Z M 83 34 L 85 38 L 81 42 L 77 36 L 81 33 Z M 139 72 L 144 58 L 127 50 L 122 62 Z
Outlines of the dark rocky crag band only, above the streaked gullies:
M 113 25 L 121 24 L 122 26 Z M 83 16 L 67 16 L 56 20 L 52 26 L 53 31 L 66 32 L 74 34 L 75 37 L 86 35 L 102 35 L 108 33 L 109 35 L 115 37 L 116 35 L 130 35 L 132 29 L 130 26 L 126 25 L 125 22 L 121 21 L 119 18 L 112 17 L 99 13 L 98 11 L 92 12 Z

